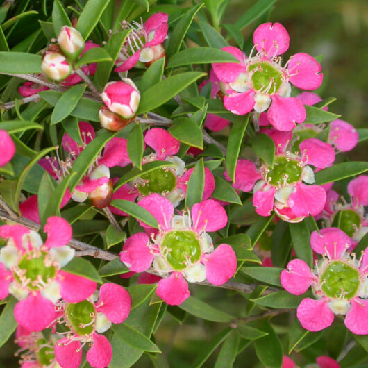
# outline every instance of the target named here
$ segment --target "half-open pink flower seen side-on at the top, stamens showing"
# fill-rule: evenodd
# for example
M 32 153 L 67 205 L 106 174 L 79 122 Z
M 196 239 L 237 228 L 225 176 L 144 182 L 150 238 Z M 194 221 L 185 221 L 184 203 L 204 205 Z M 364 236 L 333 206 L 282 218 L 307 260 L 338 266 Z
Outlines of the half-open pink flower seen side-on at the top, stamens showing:
M 120 65 L 115 72 L 126 72 L 138 61 L 151 64 L 166 55 L 162 42 L 165 41 L 169 29 L 167 19 L 168 15 L 165 12 L 157 12 L 151 15 L 144 24 L 135 21 L 130 24 L 123 21 L 122 28 L 131 29 L 131 33 L 119 53 L 117 62 Z

